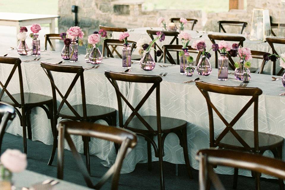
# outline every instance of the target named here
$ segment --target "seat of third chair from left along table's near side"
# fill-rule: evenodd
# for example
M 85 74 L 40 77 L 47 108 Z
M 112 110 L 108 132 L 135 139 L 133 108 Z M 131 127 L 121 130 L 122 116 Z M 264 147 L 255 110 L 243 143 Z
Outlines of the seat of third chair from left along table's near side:
M 157 133 L 157 123 L 156 116 L 148 115 L 142 116 L 143 119 L 153 128 L 154 132 Z M 182 119 L 161 117 L 161 129 L 162 133 L 170 133 L 175 130 L 180 130 L 186 127 L 187 122 Z M 139 120 L 139 118 L 134 117 L 129 125 L 126 127 L 136 133 L 150 133 L 150 131 L 145 127 L 145 125 Z

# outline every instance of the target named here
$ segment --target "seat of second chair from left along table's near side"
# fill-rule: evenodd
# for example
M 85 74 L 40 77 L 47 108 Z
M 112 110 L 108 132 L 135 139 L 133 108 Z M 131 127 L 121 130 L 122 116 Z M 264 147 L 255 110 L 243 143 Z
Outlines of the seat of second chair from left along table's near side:
M 75 111 L 83 117 L 83 106 L 82 104 L 79 105 L 73 105 L 72 106 Z M 99 106 L 99 105 L 93 105 L 93 104 L 86 104 L 86 110 L 87 110 L 87 118 L 96 118 L 96 117 L 104 117 L 109 116 L 110 114 L 116 114 L 116 110 L 111 107 L 106 106 Z M 64 118 L 75 118 L 75 115 L 72 113 L 72 111 L 67 107 L 61 109 L 59 113 L 59 117 Z

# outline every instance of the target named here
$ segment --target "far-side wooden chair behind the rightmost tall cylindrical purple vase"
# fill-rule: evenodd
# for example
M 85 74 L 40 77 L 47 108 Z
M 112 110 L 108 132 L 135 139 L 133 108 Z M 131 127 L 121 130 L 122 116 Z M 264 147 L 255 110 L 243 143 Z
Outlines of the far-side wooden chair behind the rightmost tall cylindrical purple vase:
M 230 41 L 230 42 L 238 42 L 238 45 L 243 46 L 243 42 L 246 40 L 242 36 L 225 36 L 225 35 L 216 35 L 216 34 L 208 34 L 208 37 L 210 41 L 213 44 L 216 44 L 217 42 L 215 40 L 224 40 L 224 41 Z M 215 68 L 218 68 L 218 53 L 220 53 L 220 50 L 215 51 Z M 229 67 L 232 70 L 235 70 L 235 61 L 232 60 L 232 57 L 228 55 L 229 58 Z

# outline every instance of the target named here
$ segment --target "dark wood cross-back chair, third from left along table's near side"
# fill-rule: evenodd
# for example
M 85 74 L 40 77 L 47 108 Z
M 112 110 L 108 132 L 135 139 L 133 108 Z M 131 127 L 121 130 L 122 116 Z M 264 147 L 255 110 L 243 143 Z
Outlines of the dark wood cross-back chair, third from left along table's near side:
M 131 75 L 105 71 L 105 76 L 113 85 L 116 91 L 118 100 L 118 115 L 119 127 L 129 129 L 137 135 L 143 136 L 147 141 L 148 149 L 148 170 L 151 170 L 151 145 L 153 146 L 155 156 L 159 158 L 160 168 L 160 189 L 164 189 L 164 174 L 163 174 L 163 156 L 164 156 L 164 140 L 169 133 L 177 134 L 180 145 L 183 147 L 185 164 L 189 177 L 192 179 L 191 167 L 187 149 L 187 122 L 181 119 L 162 117 L 160 115 L 160 83 L 162 78 L 154 75 Z M 126 97 L 121 93 L 117 81 L 129 83 L 148 83 L 152 84 L 145 96 L 141 99 L 137 106 L 133 107 Z M 140 115 L 139 110 L 151 95 L 156 90 L 156 115 Z M 126 105 L 132 110 L 131 115 L 124 122 L 122 99 Z M 136 116 L 136 117 L 135 117 Z M 158 143 L 153 137 L 157 136 Z

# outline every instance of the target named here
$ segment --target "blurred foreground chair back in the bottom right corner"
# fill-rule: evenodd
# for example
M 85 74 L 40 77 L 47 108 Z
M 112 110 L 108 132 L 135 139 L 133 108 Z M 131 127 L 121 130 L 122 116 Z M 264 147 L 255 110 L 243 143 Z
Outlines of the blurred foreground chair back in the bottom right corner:
M 225 190 L 219 176 L 213 171 L 213 166 L 217 165 L 242 168 L 282 180 L 285 179 L 285 162 L 261 155 L 232 150 L 204 149 L 197 153 L 196 159 L 199 161 L 200 190 L 209 189 L 210 183 L 217 190 Z M 259 178 L 256 178 L 256 180 L 259 180 Z

